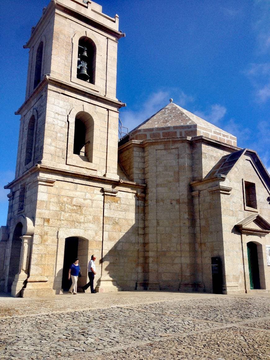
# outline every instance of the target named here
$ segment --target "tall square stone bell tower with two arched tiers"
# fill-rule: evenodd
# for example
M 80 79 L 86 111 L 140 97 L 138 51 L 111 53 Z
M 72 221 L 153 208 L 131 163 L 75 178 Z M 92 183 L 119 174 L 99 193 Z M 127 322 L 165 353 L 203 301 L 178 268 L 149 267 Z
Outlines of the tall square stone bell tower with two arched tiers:
M 84 265 L 91 252 L 102 252 L 95 243 L 102 237 L 99 195 L 119 181 L 118 110 L 125 104 L 116 99 L 116 65 L 123 36 L 118 15 L 103 14 L 93 1 L 52 0 L 24 46 L 26 99 L 16 112 L 16 174 L 6 186 L 0 249 L 1 288 L 13 296 L 59 293 L 67 237 L 76 237 Z M 83 189 L 90 180 L 98 190 Z M 95 201 L 96 219 L 86 210 Z M 78 240 L 86 232 L 91 246 Z

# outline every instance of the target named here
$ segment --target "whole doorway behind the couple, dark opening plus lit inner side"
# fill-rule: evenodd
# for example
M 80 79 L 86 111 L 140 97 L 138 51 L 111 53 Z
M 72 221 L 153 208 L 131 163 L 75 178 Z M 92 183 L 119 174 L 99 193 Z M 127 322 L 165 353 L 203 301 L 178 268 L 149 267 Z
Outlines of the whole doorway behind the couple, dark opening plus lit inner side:
M 87 265 L 88 265 L 88 241 L 79 237 L 69 237 L 65 239 L 62 289 L 68 292 L 71 287 L 71 280 L 68 280 L 68 270 L 75 258 L 79 259 L 82 277 L 78 279 L 78 287 L 86 283 Z

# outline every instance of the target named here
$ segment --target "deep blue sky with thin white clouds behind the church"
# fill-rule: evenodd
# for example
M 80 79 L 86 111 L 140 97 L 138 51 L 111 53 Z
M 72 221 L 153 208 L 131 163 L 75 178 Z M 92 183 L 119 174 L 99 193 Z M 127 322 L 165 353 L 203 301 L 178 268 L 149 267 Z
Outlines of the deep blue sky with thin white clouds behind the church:
M 31 27 L 48 0 L 1 1 L 0 225 L 13 180 Z M 270 168 L 269 0 L 100 0 L 120 16 L 117 97 L 129 129 L 174 103 L 234 134 Z

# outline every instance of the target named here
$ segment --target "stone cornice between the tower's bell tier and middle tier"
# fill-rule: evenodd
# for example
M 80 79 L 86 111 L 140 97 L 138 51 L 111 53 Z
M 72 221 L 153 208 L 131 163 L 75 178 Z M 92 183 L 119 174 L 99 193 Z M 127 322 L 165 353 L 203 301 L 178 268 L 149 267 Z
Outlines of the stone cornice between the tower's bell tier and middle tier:
M 69 84 L 67 82 L 55 79 L 49 75 L 45 75 L 44 78 L 41 80 L 39 85 L 37 85 L 36 89 L 33 91 L 33 93 L 29 96 L 29 98 L 22 104 L 22 106 L 15 112 L 15 115 L 19 115 L 23 113 L 23 110 L 27 105 L 31 102 L 33 98 L 44 88 L 46 84 L 51 84 L 56 87 L 59 87 L 60 89 L 66 89 L 68 91 L 71 91 L 71 93 L 83 95 L 87 98 L 94 99 L 97 101 L 100 101 L 102 103 L 112 105 L 117 107 L 118 109 L 121 107 L 125 107 L 125 103 L 121 103 L 117 100 L 106 98 L 106 96 L 98 95 L 95 93 L 92 93 L 91 91 L 87 91 L 86 89 L 81 89 L 81 87 L 78 87 L 74 84 Z

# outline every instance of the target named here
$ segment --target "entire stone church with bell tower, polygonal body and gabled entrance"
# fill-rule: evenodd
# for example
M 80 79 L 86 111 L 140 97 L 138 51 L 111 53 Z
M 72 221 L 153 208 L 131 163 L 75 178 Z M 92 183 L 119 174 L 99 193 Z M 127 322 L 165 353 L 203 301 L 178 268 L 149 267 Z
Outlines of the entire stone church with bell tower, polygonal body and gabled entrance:
M 257 153 L 173 103 L 119 139 L 118 15 L 53 0 L 29 41 L 0 291 L 270 291 L 270 179 Z M 121 128 L 120 128 L 121 132 Z

